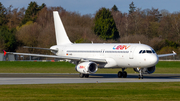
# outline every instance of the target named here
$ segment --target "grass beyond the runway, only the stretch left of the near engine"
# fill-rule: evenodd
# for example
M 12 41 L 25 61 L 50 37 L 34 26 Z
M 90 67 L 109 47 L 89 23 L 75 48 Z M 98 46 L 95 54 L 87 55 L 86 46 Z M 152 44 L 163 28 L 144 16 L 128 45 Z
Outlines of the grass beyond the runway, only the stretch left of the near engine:
M 0 62 L 1 73 L 75 73 L 75 65 L 68 62 Z

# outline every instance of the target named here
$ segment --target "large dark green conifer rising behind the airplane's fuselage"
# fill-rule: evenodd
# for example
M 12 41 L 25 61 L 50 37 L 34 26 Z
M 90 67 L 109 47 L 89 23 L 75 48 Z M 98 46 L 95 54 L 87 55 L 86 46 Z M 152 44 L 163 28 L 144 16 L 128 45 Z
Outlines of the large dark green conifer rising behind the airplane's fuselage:
M 119 38 L 119 32 L 109 9 L 101 8 L 96 13 L 94 32 L 104 40 Z

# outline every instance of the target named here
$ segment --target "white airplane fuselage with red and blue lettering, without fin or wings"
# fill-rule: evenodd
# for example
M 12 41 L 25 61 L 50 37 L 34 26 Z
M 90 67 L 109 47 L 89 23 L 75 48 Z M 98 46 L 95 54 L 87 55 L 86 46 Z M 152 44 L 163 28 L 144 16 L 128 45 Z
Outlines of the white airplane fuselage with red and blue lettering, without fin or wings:
M 147 68 L 158 63 L 154 50 L 144 44 L 69 44 L 55 45 L 58 56 L 106 59 L 99 68 Z

